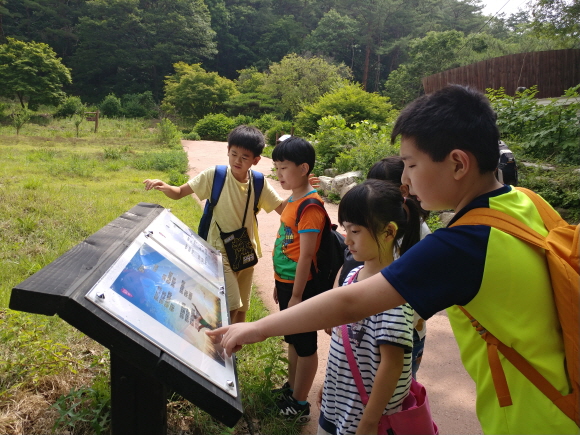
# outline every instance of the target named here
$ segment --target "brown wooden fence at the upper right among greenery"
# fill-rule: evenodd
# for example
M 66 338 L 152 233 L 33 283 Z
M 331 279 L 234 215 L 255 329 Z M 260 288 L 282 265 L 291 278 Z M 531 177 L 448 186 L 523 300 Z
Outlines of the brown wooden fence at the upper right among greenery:
M 560 97 L 566 89 L 580 84 L 580 49 L 510 54 L 423 78 L 426 94 L 450 83 L 482 92 L 503 87 L 508 95 L 514 95 L 520 86 L 537 85 L 537 98 Z

